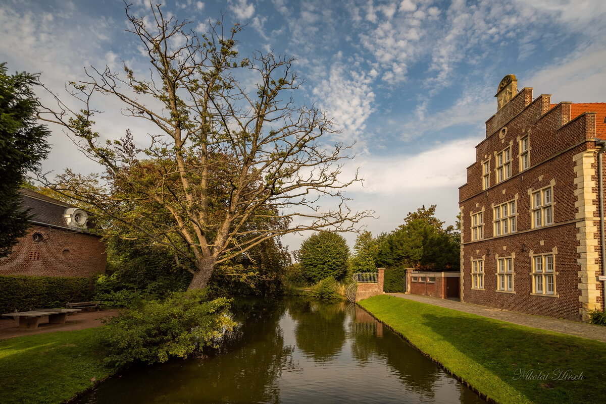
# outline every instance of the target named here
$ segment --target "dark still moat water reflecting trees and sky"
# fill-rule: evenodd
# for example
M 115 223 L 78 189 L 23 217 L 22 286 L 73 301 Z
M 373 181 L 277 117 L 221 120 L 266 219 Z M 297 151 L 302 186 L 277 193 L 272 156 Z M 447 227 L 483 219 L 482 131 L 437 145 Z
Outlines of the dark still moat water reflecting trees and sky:
M 113 377 L 79 404 L 484 403 L 358 306 L 234 302 L 239 326 L 203 358 Z

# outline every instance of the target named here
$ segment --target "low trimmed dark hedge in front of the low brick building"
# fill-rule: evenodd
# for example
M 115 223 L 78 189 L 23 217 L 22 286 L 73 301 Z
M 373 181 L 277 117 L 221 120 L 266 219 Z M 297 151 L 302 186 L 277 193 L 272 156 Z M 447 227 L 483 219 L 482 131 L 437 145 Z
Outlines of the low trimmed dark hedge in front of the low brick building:
M 0 276 L 0 314 L 92 300 L 92 279 Z

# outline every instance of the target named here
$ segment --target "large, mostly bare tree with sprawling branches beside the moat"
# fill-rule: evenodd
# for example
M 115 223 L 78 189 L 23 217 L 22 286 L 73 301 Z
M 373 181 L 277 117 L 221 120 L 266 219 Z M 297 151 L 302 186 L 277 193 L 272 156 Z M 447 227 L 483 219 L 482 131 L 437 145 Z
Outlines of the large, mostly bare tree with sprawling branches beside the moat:
M 341 180 L 349 146 L 322 146 L 335 128 L 325 112 L 291 98 L 301 81 L 293 59 L 236 51 L 239 25 L 209 24 L 198 35 L 190 22 L 126 15 L 149 58 L 149 73 L 85 69 L 71 82 L 82 106 L 58 106 L 41 118 L 64 126 L 82 152 L 104 166 L 102 178 L 72 171 L 45 186 L 87 203 L 110 218 L 105 232 L 145 240 L 175 254 L 202 288 L 215 266 L 266 239 L 301 230 L 354 230 L 371 212 L 351 212 Z M 250 90 L 242 84 L 256 83 Z M 158 132 L 145 148 L 133 135 L 108 142 L 95 131 L 95 94 L 114 97 L 122 114 L 148 120 Z M 140 143 L 140 142 L 139 142 Z M 88 180 L 88 181 L 87 181 Z M 330 200 L 333 208 L 325 209 Z M 336 203 L 335 203 L 336 202 Z M 112 228 L 113 227 L 113 228 Z M 119 227 L 119 231 L 116 230 Z

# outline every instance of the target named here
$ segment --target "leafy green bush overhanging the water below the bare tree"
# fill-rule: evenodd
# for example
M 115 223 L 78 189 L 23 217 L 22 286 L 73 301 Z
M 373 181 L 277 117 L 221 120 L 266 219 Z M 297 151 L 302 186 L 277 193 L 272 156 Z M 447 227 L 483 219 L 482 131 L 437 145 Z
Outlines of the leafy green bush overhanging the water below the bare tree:
M 119 368 L 135 362 L 166 362 L 216 346 L 224 330 L 236 325 L 228 316 L 229 302 L 209 300 L 207 292 L 190 290 L 125 309 L 105 321 L 101 334 L 105 362 Z

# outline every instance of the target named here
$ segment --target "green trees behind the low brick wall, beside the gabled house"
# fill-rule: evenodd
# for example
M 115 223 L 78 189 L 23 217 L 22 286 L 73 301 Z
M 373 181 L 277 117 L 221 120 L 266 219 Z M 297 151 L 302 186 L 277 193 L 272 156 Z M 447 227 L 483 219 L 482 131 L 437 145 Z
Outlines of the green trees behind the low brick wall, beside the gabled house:
M 433 216 L 435 205 L 408 213 L 405 223 L 378 236 L 379 267 L 416 267 L 425 270 L 458 270 L 459 233 Z

